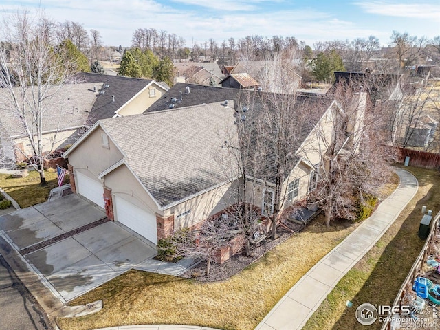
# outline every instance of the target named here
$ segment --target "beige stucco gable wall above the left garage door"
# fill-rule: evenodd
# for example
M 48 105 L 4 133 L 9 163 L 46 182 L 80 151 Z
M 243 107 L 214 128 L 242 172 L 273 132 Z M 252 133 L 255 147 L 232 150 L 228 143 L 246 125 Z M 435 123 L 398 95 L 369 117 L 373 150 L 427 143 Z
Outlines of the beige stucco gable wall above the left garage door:
M 104 131 L 98 128 L 91 133 L 72 153 L 69 154 L 69 164 L 75 170 L 92 179 L 98 179 L 98 174 L 122 159 L 122 153 L 109 139 L 109 148 L 102 146 Z

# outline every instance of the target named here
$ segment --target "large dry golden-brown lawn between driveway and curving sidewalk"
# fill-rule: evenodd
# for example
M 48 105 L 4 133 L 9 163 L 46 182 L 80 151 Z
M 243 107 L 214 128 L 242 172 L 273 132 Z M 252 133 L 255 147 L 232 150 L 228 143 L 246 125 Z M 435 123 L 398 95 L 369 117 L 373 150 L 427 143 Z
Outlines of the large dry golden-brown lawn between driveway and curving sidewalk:
M 74 300 L 102 299 L 97 314 L 58 319 L 67 329 L 115 325 L 185 324 L 219 329 L 254 329 L 294 283 L 355 228 L 327 228 L 317 218 L 240 274 L 218 283 L 130 271 Z

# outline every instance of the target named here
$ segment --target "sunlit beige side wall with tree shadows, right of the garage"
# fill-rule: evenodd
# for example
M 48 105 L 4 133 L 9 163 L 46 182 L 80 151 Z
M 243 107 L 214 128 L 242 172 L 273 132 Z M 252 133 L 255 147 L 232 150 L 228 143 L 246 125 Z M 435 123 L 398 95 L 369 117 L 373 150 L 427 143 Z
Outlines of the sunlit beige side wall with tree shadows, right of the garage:
M 238 183 L 234 181 L 219 188 L 210 190 L 177 206 L 165 210 L 165 216 L 174 214 L 175 229 L 192 227 L 213 214 L 221 212 L 224 208 L 236 203 Z M 186 215 L 184 214 L 188 212 Z

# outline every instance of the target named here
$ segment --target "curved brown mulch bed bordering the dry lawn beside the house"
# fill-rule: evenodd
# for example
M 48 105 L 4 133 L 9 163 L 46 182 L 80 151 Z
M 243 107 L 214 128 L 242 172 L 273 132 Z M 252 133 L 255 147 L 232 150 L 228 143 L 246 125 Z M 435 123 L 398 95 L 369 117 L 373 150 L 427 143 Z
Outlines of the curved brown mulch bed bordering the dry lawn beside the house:
M 287 221 L 285 223 L 290 230 L 283 228 L 278 225 L 276 239 L 273 241 L 268 239 L 259 243 L 253 250 L 251 250 L 250 256 L 245 256 L 244 251 L 232 256 L 228 261 L 223 264 L 211 263 L 210 273 L 206 275 L 206 261 L 202 261 L 195 267 L 184 272 L 181 277 L 184 278 L 196 278 L 197 281 L 201 282 L 214 282 L 214 281 L 224 281 L 235 274 L 241 272 L 245 267 L 254 263 L 261 258 L 267 251 L 272 250 L 276 245 L 283 243 L 290 236 L 294 235 L 296 232 L 300 232 L 305 228 L 304 225 L 297 223 L 291 223 Z M 293 230 L 294 232 L 292 232 Z

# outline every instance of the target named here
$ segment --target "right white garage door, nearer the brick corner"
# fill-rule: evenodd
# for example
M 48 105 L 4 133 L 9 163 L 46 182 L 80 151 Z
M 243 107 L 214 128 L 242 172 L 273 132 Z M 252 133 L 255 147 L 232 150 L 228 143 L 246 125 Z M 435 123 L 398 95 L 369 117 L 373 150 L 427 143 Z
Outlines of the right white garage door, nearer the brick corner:
M 115 198 L 116 220 L 131 230 L 157 244 L 157 225 L 155 215 L 134 206 L 120 197 Z

